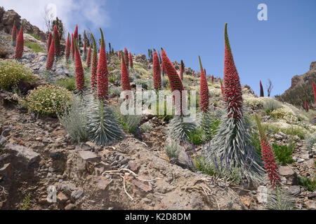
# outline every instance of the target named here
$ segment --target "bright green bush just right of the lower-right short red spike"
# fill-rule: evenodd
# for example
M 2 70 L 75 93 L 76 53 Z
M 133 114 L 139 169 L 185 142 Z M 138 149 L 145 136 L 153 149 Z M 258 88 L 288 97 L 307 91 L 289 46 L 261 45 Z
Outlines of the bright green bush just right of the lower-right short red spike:
M 275 159 L 277 160 L 277 162 L 280 162 L 282 165 L 287 165 L 295 162 L 292 158 L 295 144 L 293 144 L 292 142 L 289 144 L 289 146 L 272 144 L 272 148 L 275 153 Z

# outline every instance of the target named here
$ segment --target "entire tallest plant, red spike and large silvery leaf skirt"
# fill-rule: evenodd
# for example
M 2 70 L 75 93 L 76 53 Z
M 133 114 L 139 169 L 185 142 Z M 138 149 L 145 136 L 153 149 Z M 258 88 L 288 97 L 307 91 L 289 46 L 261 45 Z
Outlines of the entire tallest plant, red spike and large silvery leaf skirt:
M 228 39 L 227 24 L 225 25 L 225 65 L 224 65 L 226 114 L 221 118 L 218 132 L 214 137 L 211 153 L 206 157 L 210 163 L 213 156 L 222 160 L 228 172 L 241 169 L 244 183 L 255 186 L 263 181 L 263 161 L 255 151 L 250 123 L 242 112 L 242 87 L 232 57 Z M 213 154 L 213 155 L 211 155 Z M 225 162 L 226 160 L 229 161 Z

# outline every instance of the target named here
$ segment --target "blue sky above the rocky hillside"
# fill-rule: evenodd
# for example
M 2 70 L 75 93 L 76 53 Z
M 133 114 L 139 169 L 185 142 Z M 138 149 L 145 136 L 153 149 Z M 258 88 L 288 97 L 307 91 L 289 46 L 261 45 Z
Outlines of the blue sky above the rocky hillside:
M 1 1 L 4 0 L 0 0 L 0 5 Z M 62 10 L 59 16 L 72 31 L 80 16 L 74 16 L 70 10 L 67 13 L 70 6 L 62 6 L 62 1 L 48 2 L 55 3 L 59 12 Z M 183 59 L 195 71 L 199 71 L 198 55 L 201 55 L 207 73 L 221 78 L 223 32 L 228 22 L 242 85 L 250 85 L 256 94 L 259 80 L 266 85 L 268 78 L 275 86 L 272 95 L 282 94 L 290 87 L 291 78 L 308 71 L 310 62 L 316 60 L 315 0 L 72 2 L 79 5 L 72 12 L 85 11 L 79 14 L 84 15 L 79 20 L 79 31 L 91 27 L 97 34 L 97 27 L 103 27 L 105 41 L 114 50 L 126 47 L 132 53 L 147 55 L 148 48 L 163 47 L 171 61 Z M 257 19 L 259 3 L 268 6 L 268 21 Z

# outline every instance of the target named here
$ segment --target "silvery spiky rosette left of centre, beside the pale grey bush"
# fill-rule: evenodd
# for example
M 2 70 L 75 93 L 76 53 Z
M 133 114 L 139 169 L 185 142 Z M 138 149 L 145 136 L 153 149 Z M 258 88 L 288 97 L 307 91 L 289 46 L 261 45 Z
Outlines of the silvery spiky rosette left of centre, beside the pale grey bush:
M 124 137 L 114 112 L 104 102 L 91 97 L 87 115 L 87 130 L 94 144 L 107 146 Z

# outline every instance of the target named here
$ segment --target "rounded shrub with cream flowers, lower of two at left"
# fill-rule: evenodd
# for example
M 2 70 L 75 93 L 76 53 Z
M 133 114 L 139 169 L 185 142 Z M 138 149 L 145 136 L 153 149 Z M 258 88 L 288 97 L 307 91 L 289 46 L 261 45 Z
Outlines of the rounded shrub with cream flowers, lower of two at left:
M 65 105 L 71 102 L 71 99 L 72 92 L 63 87 L 41 85 L 31 90 L 26 99 L 20 101 L 20 104 L 34 113 L 54 116 L 56 112 L 63 113 Z

